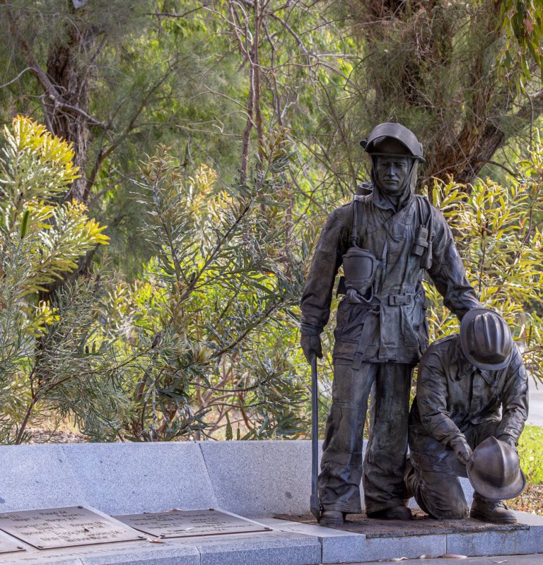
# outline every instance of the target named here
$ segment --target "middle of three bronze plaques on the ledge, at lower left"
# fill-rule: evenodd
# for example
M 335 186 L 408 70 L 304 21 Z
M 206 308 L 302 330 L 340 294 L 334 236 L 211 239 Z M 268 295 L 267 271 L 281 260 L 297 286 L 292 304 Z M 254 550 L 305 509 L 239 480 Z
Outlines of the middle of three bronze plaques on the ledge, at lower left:
M 2 512 L 0 530 L 37 549 L 129 542 L 144 537 L 83 506 Z

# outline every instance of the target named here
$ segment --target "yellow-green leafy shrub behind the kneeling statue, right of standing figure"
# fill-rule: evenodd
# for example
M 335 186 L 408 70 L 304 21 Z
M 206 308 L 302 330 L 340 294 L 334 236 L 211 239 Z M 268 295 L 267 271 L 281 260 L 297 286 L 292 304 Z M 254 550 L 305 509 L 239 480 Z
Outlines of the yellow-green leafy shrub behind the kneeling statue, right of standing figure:
M 433 203 L 447 218 L 481 303 L 508 321 L 530 373 L 543 379 L 543 239 L 537 225 L 543 206 L 543 146 L 519 163 L 518 179 L 500 186 L 478 179 L 467 187 L 435 182 Z M 425 285 L 431 340 L 457 331 L 457 320 Z

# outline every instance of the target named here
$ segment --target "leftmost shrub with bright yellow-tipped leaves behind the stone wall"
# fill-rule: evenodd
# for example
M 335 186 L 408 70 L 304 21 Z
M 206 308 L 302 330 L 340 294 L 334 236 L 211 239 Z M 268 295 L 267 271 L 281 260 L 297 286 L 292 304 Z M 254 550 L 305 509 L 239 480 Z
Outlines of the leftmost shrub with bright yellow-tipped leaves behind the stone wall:
M 85 347 L 91 339 L 100 292 L 92 280 L 65 288 L 52 308 L 38 292 L 77 268 L 77 259 L 107 237 L 78 203 L 54 203 L 77 171 L 73 153 L 43 126 L 13 119 L 4 130 L 0 160 L 0 421 L 3 442 L 21 441 L 40 410 L 67 406 L 93 411 L 82 395 L 92 388 Z M 53 344 L 54 347 L 48 346 Z M 81 386 L 83 379 L 86 387 Z M 74 386 L 74 381 L 78 384 Z M 66 387 L 81 398 L 76 401 Z M 95 395 L 103 388 L 96 385 Z M 40 408 L 38 410 L 37 408 Z M 37 411 L 37 412 L 36 412 Z

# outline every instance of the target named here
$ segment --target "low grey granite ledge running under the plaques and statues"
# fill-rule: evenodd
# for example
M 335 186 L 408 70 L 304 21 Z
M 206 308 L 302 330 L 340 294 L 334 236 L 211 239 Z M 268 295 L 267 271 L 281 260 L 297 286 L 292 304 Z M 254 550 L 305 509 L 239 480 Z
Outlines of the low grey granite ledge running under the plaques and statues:
M 261 518 L 270 532 L 123 542 L 92 547 L 4 554 L 0 564 L 52 565 L 319 565 L 365 563 L 422 555 L 536 554 L 543 549 L 543 518 L 517 513 L 520 528 L 484 531 L 365 535 L 276 518 Z M 24 546 L 24 544 L 22 544 Z M 457 561 L 457 560 L 456 560 Z M 425 561 L 426 562 L 426 561 Z M 489 561 L 491 562 L 491 561 Z M 515 561 L 509 561 L 515 562 Z M 543 556 L 541 557 L 543 562 Z M 443 561 L 445 564 L 445 561 Z

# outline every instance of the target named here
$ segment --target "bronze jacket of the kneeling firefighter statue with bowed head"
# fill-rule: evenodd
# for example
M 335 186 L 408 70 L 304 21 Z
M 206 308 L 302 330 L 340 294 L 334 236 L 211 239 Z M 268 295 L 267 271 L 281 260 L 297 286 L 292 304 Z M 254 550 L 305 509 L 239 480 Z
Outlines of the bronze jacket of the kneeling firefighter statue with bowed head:
M 451 335 L 428 347 L 419 364 L 409 445 L 437 464 L 451 441 L 466 441 L 469 429 L 491 421 L 498 422 L 498 439 L 517 444 L 527 412 L 527 373 L 518 347 L 513 344 L 507 367 L 486 371 L 465 358 L 459 335 Z

